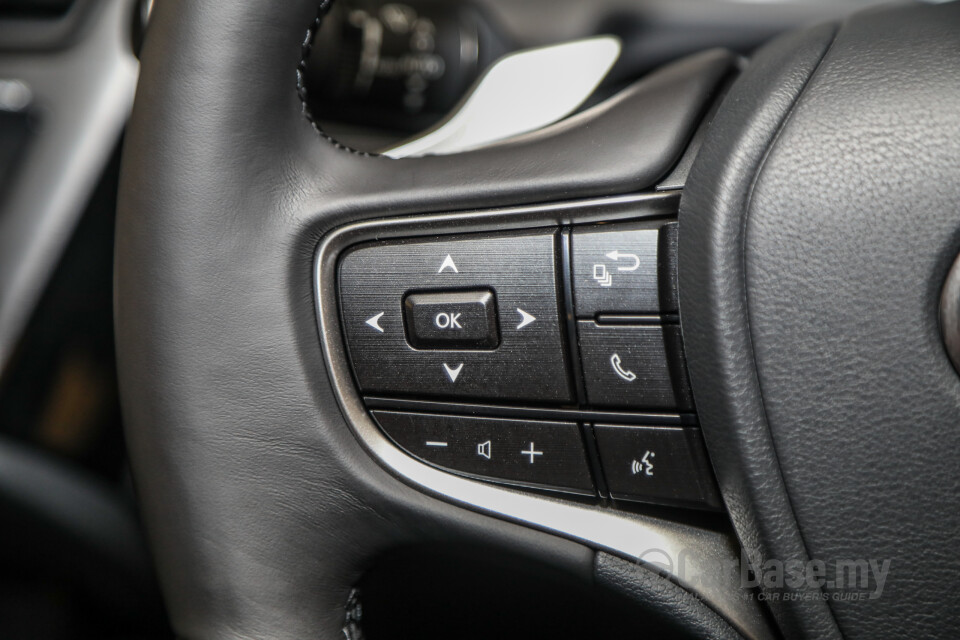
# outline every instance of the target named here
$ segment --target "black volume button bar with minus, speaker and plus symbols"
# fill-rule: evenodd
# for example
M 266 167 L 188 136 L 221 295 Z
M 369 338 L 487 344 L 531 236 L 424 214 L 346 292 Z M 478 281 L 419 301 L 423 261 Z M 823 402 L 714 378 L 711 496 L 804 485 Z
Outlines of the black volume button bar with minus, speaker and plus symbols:
M 594 494 L 580 428 L 544 422 L 374 411 L 411 455 L 459 473 L 512 484 Z

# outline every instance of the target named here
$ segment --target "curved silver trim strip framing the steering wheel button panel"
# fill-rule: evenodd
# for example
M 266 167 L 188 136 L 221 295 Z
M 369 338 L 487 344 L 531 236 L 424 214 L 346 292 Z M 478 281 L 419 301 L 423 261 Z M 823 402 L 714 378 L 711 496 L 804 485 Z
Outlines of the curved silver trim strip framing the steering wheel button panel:
M 370 220 L 336 229 L 317 249 L 314 278 L 324 359 L 341 410 L 363 446 L 401 479 L 462 507 L 561 535 L 635 560 L 700 597 L 746 638 L 774 634 L 760 603 L 740 588 L 732 534 L 650 516 L 523 493 L 451 475 L 398 449 L 373 422 L 353 381 L 340 326 L 337 259 L 368 240 L 552 227 L 675 214 L 679 192 L 636 194 L 488 211 Z

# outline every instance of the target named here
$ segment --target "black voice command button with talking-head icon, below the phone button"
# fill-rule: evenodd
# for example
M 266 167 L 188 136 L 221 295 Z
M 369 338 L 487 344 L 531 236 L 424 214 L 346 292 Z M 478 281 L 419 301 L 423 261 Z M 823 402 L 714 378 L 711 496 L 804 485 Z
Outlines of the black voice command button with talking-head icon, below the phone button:
M 614 499 L 720 506 L 699 429 L 598 424 L 594 434 Z

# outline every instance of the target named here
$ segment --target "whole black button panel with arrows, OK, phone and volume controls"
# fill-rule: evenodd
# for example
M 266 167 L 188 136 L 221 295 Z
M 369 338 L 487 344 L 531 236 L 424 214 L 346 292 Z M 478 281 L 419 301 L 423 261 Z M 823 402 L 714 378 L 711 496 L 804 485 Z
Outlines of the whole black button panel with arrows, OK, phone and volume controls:
M 337 256 L 339 320 L 358 396 L 396 446 L 500 484 L 719 508 L 675 218 L 371 235 Z

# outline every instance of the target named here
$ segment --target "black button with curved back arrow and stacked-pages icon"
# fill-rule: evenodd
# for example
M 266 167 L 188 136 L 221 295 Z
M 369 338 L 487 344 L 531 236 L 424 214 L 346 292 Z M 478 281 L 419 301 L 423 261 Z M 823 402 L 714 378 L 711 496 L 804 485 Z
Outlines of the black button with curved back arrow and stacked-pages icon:
M 571 235 L 577 317 L 677 312 L 676 225 L 601 225 Z M 662 237 L 661 237 L 662 236 Z

